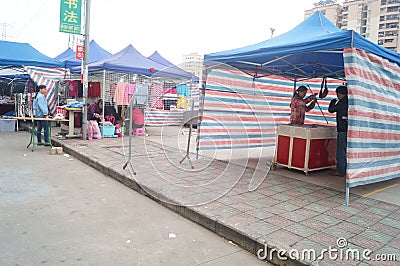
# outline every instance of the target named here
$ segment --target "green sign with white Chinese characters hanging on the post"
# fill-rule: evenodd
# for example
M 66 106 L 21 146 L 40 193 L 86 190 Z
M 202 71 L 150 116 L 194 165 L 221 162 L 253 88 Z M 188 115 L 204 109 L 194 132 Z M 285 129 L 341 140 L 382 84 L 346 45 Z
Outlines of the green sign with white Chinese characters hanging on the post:
M 60 32 L 81 34 L 82 0 L 61 0 Z

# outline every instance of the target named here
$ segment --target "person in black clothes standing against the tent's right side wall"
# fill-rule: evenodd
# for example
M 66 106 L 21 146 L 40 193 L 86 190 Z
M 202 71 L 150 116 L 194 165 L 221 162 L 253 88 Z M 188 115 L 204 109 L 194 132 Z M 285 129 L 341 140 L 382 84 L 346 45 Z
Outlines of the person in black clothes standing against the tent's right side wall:
M 348 124 L 348 98 L 347 87 L 336 88 L 336 95 L 339 99 L 331 100 L 328 111 L 336 113 L 337 147 L 336 147 L 336 170 L 330 174 L 334 176 L 346 175 L 346 148 L 347 148 L 347 124 Z

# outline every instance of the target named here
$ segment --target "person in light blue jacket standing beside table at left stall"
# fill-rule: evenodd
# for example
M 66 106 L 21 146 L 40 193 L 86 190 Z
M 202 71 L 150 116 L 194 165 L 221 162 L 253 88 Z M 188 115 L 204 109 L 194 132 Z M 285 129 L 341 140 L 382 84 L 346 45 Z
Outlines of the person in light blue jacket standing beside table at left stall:
M 40 85 L 38 87 L 39 92 L 33 101 L 33 110 L 35 111 L 35 117 L 47 118 L 49 115 L 49 108 L 46 101 L 46 85 Z M 44 128 L 44 145 L 50 146 L 49 142 L 49 127 L 46 120 L 37 120 L 37 141 L 38 145 L 43 145 L 42 142 L 42 128 Z

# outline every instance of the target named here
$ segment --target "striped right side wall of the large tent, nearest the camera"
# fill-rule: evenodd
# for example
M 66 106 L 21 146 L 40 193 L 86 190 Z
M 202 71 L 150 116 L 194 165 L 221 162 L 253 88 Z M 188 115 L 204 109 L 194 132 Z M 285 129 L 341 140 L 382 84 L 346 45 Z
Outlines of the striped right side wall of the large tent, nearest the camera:
M 347 186 L 400 177 L 400 67 L 349 48 Z

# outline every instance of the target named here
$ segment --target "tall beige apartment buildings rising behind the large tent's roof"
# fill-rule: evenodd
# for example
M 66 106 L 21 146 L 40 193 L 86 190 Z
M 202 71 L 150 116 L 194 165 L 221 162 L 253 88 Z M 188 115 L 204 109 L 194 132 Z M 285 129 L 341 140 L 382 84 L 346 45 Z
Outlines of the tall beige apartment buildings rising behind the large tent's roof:
M 338 28 L 354 30 L 370 41 L 400 52 L 400 0 L 324 0 L 304 12 L 321 11 Z

